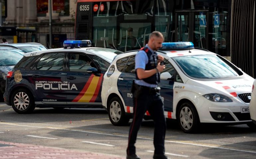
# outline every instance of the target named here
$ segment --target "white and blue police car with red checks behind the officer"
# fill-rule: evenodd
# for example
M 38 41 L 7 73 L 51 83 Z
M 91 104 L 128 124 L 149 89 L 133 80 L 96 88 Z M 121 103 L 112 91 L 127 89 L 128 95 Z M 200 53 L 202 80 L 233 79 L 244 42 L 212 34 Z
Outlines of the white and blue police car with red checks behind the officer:
M 127 124 L 133 113 L 136 53 L 117 55 L 104 75 L 102 104 L 113 125 Z M 165 116 L 177 119 L 184 132 L 196 131 L 199 123 L 251 122 L 252 77 L 215 53 L 195 49 L 191 42 L 163 43 L 158 54 L 166 66 L 159 83 Z

